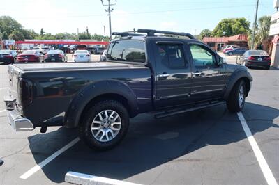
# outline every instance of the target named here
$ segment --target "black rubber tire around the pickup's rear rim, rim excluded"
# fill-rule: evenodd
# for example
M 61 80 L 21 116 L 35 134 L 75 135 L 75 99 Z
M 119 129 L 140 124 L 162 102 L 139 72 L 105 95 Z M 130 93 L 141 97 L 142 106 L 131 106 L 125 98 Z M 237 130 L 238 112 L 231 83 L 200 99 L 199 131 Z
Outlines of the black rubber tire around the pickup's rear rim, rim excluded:
M 96 136 L 93 136 L 91 127 L 93 125 L 93 120 L 97 118 L 99 113 L 102 113 L 102 111 L 105 110 L 115 111 L 119 115 L 121 119 L 121 127 L 114 138 L 111 135 L 112 140 L 104 142 L 95 138 Z M 89 110 L 85 113 L 85 116 L 79 125 L 80 138 L 84 141 L 84 143 L 86 143 L 86 145 L 94 150 L 110 150 L 112 147 L 119 144 L 121 140 L 123 140 L 123 138 L 126 136 L 129 127 L 129 121 L 130 120 L 128 111 L 126 110 L 125 106 L 123 106 L 123 104 L 115 100 L 103 100 L 101 102 L 93 104 L 93 106 L 91 106 L 91 108 L 89 108 Z

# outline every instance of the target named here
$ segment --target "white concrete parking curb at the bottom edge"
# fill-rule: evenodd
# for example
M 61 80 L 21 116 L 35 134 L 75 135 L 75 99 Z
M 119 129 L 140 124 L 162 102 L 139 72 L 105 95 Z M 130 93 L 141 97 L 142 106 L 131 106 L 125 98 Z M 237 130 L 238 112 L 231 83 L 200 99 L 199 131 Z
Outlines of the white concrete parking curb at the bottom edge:
M 87 175 L 79 172 L 67 172 L 65 182 L 81 185 L 140 185 L 132 182 L 123 182 L 116 179 Z

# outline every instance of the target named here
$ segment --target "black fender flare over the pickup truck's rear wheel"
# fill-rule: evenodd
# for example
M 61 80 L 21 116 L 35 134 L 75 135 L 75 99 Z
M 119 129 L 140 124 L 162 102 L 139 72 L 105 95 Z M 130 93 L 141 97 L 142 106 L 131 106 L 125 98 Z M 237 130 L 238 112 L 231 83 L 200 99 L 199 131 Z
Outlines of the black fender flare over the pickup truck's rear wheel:
M 124 97 L 128 102 L 130 115 L 137 115 L 139 106 L 137 104 L 137 96 L 133 90 L 123 81 L 113 79 L 102 80 L 91 83 L 75 95 L 66 112 L 64 126 L 68 128 L 77 127 L 85 106 L 95 97 L 105 94 L 115 94 Z

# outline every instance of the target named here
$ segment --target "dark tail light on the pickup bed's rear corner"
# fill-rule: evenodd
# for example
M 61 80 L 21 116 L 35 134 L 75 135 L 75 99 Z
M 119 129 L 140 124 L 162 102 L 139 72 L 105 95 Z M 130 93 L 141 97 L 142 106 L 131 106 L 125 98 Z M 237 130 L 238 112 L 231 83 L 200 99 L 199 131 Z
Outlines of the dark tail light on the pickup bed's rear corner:
M 28 106 L 33 101 L 33 83 L 27 79 L 20 79 L 18 95 L 21 106 Z

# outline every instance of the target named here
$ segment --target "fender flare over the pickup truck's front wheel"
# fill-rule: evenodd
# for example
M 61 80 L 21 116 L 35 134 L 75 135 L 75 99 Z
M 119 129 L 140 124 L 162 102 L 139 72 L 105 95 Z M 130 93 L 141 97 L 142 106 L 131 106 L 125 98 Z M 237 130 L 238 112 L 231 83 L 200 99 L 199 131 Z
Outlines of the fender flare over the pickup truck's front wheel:
M 231 77 L 229 78 L 229 81 L 227 81 L 227 86 L 225 88 L 225 93 L 223 97 L 225 100 L 227 100 L 227 98 L 229 97 L 229 93 L 231 93 L 232 88 L 234 88 L 234 84 L 236 83 L 236 81 L 239 81 L 239 79 L 242 78 L 246 78 L 249 80 L 250 86 L 248 86 L 248 91 L 246 94 L 246 96 L 248 96 L 248 92 L 251 87 L 252 76 L 247 70 L 238 69 L 232 73 Z

